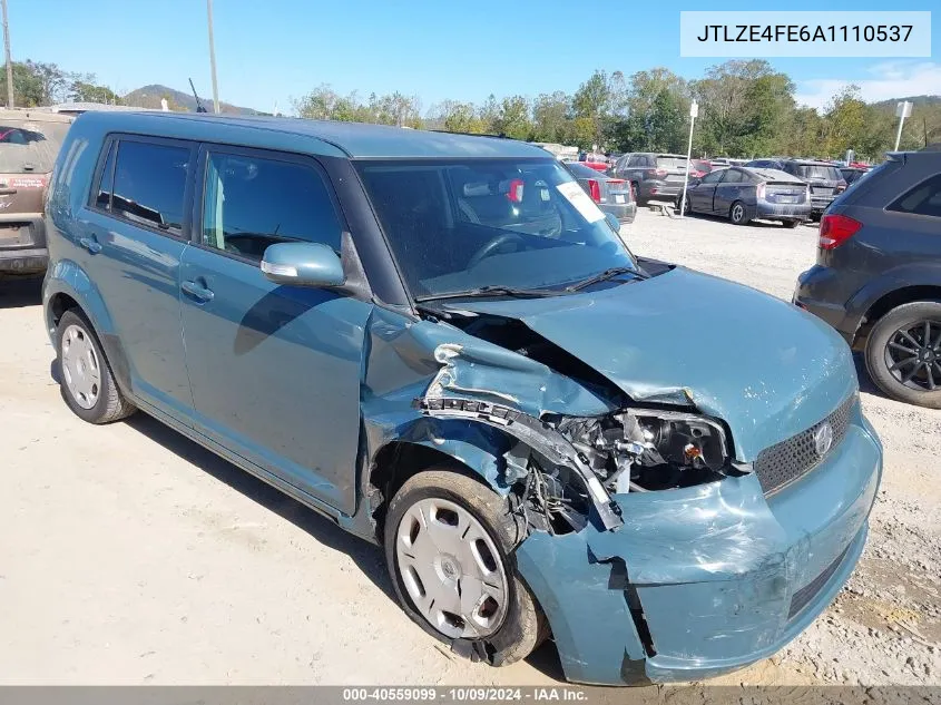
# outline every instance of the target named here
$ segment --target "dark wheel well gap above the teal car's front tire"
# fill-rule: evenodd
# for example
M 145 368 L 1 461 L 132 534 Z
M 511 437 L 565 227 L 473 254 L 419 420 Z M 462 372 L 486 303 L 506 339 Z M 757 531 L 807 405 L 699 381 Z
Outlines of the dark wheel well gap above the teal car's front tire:
M 490 487 L 478 472 L 443 451 L 409 441 L 388 443 L 375 454 L 367 484 L 370 510 L 380 542 L 383 540 L 385 512 L 395 492 L 409 478 L 431 468 L 463 474 Z

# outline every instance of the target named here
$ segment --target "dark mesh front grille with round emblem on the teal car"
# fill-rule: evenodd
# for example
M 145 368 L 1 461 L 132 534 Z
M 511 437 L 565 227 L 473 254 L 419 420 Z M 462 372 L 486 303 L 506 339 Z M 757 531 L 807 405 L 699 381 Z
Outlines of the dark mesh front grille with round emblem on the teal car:
M 792 435 L 771 448 L 765 448 L 755 460 L 755 474 L 762 483 L 765 495 L 771 495 L 806 474 L 833 452 L 850 425 L 850 414 L 856 403 L 856 394 L 852 394 L 826 419 L 812 425 L 806 431 Z M 830 423 L 833 429 L 833 442 L 823 456 L 817 454 L 814 444 L 814 433 L 824 424 Z

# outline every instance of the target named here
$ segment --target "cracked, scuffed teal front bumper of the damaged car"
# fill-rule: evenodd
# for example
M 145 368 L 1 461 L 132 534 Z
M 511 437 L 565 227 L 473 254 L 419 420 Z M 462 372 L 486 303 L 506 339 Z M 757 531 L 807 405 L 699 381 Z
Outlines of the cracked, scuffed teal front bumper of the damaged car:
M 859 560 L 882 448 L 859 407 L 817 468 L 765 498 L 754 476 L 616 497 L 625 526 L 533 533 L 520 572 L 566 677 L 637 684 L 713 677 L 781 649 Z

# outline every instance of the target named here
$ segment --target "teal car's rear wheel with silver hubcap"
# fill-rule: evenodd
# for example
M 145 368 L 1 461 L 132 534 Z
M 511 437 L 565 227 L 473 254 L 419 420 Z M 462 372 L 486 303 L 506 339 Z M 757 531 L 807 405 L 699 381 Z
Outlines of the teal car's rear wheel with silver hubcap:
M 91 324 L 75 310 L 66 311 L 56 330 L 59 386 L 76 415 L 89 423 L 110 423 L 134 413 L 115 378 Z

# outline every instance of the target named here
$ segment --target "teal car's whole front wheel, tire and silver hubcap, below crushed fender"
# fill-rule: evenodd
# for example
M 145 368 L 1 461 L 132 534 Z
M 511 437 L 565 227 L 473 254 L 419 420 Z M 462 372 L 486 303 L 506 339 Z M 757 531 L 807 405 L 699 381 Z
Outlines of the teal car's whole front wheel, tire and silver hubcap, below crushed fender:
M 429 470 L 389 506 L 385 559 L 405 613 L 425 631 L 493 666 L 528 656 L 545 618 L 517 574 L 516 521 L 472 478 Z

